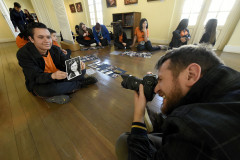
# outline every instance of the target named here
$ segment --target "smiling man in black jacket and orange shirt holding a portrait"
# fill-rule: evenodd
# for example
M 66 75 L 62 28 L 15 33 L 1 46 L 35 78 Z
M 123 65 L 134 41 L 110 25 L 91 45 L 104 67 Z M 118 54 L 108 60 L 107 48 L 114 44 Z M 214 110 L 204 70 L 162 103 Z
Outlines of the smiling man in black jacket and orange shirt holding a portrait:
M 84 77 L 84 63 L 82 75 L 68 81 L 65 66 L 67 56 L 59 47 L 52 46 L 48 28 L 42 23 L 34 22 L 28 26 L 28 31 L 30 42 L 18 50 L 17 59 L 29 92 L 48 102 L 63 104 L 69 101 L 67 94 L 97 82 L 94 77 Z

